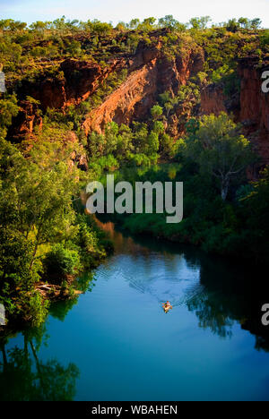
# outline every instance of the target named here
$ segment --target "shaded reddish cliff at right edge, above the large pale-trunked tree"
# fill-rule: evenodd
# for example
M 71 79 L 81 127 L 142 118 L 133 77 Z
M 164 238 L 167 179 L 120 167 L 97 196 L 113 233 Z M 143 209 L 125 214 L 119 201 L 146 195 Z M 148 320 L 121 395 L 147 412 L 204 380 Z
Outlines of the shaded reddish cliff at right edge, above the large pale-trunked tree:
M 269 164 L 269 93 L 262 91 L 262 73 L 256 59 L 240 60 L 239 96 L 226 98 L 222 86 L 209 85 L 202 91 L 201 113 L 232 113 L 236 122 L 243 125 L 244 133 L 255 145 L 263 162 Z

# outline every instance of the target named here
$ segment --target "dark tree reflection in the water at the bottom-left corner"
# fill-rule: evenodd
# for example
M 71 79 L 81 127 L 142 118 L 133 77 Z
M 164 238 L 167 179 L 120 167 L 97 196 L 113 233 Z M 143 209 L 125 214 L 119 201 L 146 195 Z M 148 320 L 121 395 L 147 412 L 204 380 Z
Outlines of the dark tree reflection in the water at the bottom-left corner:
M 33 330 L 23 333 L 23 348 L 6 350 L 3 340 L 0 349 L 0 399 L 5 401 L 72 400 L 79 370 L 74 363 L 64 367 L 55 359 L 39 360 L 40 336 L 32 337 Z M 36 342 L 36 346 L 34 344 Z

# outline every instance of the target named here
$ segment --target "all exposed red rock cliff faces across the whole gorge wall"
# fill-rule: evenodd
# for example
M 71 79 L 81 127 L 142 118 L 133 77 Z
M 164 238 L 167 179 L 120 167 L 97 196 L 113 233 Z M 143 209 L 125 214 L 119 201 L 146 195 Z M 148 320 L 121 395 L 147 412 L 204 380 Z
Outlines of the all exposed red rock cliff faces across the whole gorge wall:
M 266 64 L 266 63 L 265 63 Z M 267 63 L 269 64 L 269 63 Z M 33 127 L 42 126 L 37 108 L 25 100 L 31 96 L 39 100 L 42 110 L 48 107 L 62 109 L 78 105 L 89 98 L 108 74 L 127 69 L 127 78 L 103 103 L 86 115 L 83 129 L 101 132 L 108 122 L 129 124 L 149 115 L 159 94 L 169 90 L 176 94 L 181 85 L 196 73 L 203 71 L 204 52 L 186 48 L 178 56 L 168 58 L 156 37 L 154 47 L 141 41 L 133 56 L 110 59 L 106 65 L 67 59 L 60 64 L 60 72 L 43 75 L 35 82 L 26 81 L 18 90 L 21 112 L 13 121 L 11 134 L 20 141 Z M 239 61 L 240 94 L 226 98 L 222 85 L 209 85 L 202 90 L 200 114 L 215 115 L 222 111 L 232 113 L 236 122 L 243 124 L 244 132 L 253 141 L 265 163 L 269 163 L 269 94 L 261 90 L 261 70 L 251 57 Z M 179 106 L 168 118 L 168 132 L 178 136 L 184 132 L 187 118 L 193 110 Z M 198 109 L 195 110 L 199 112 Z

